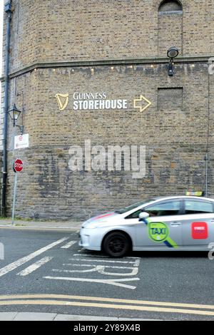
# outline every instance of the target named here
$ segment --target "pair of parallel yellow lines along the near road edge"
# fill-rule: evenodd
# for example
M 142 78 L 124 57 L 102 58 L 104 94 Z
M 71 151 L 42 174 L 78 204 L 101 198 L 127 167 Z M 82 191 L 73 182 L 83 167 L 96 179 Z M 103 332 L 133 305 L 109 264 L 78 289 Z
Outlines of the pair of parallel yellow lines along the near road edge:
M 0 306 L 8 305 L 60 305 L 103 309 L 127 309 L 158 313 L 181 313 L 214 316 L 214 305 L 182 304 L 163 301 L 83 297 L 64 294 L 18 294 L 0 296 Z

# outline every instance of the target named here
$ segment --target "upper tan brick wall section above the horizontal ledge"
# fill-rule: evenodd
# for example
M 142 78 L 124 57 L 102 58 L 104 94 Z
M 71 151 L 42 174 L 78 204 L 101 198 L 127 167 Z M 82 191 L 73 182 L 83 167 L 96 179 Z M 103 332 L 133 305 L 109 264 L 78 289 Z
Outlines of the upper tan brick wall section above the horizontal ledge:
M 14 0 L 11 71 L 37 62 L 156 57 L 158 31 L 159 56 L 170 42 L 183 45 L 185 56 L 212 53 L 213 0 L 180 2 L 183 15 L 168 18 L 158 16 L 160 0 Z

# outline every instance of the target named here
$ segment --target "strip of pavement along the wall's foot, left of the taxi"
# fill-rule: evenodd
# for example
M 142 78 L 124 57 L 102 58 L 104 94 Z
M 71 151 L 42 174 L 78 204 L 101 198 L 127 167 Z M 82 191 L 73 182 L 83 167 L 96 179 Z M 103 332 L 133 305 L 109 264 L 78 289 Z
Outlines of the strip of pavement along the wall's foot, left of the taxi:
M 12 225 L 11 218 L 0 219 L 0 228 L 19 230 L 80 230 L 83 221 L 39 221 L 39 220 L 15 220 Z

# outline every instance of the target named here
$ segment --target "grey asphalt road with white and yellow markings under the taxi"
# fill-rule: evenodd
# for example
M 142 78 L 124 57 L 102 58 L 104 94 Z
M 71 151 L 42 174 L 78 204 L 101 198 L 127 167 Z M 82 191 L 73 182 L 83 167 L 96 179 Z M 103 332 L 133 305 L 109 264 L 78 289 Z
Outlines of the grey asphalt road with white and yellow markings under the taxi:
M 76 232 L 0 229 L 0 242 L 0 313 L 214 319 L 214 260 L 207 253 L 111 259 L 78 247 Z

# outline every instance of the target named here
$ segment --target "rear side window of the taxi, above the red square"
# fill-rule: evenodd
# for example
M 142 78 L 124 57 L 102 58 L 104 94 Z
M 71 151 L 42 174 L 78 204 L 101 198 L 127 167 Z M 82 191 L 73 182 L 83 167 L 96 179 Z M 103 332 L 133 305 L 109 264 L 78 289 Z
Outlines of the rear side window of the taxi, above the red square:
M 213 213 L 213 203 L 209 201 L 185 200 L 185 214 Z

